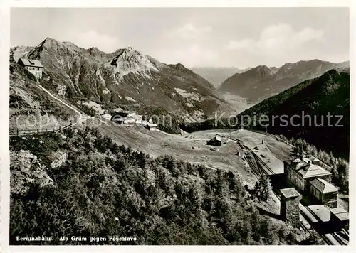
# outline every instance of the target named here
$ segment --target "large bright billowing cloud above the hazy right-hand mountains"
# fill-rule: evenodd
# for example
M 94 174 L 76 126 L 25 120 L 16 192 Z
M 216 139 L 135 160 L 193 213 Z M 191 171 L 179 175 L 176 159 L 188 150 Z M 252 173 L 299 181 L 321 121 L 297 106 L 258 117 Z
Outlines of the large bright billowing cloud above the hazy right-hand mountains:
M 229 41 L 226 50 L 244 50 L 248 53 L 263 55 L 281 55 L 300 50 L 311 42 L 323 42 L 323 31 L 303 28 L 295 31 L 292 26 L 281 23 L 268 26 L 261 31 L 258 40 L 244 38 L 240 41 Z

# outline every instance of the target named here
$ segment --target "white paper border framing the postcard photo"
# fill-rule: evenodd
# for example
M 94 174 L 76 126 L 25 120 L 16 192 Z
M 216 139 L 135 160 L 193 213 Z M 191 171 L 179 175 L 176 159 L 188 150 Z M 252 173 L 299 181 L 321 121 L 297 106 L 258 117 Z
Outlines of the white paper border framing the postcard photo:
M 0 183 L 1 183 L 1 248 L 0 252 L 355 252 L 355 116 L 350 122 L 350 244 L 330 246 L 9 246 L 9 48 L 10 8 L 14 7 L 348 7 L 350 6 L 350 107 L 355 112 L 355 1 L 345 0 L 14 0 L 1 1 L 1 106 L 0 106 Z M 251 17 L 252 18 L 252 17 Z M 258 17 L 253 17 L 258 18 Z M 355 97 L 356 99 L 356 97 Z M 354 239 L 352 239 L 354 238 Z

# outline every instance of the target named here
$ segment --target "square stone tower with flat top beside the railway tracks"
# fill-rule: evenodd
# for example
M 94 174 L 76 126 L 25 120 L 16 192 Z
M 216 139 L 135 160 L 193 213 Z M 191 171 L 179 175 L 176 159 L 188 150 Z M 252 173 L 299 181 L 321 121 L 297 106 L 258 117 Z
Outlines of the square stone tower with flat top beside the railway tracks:
M 295 188 L 281 189 L 281 218 L 293 227 L 300 227 L 299 201 L 302 196 Z

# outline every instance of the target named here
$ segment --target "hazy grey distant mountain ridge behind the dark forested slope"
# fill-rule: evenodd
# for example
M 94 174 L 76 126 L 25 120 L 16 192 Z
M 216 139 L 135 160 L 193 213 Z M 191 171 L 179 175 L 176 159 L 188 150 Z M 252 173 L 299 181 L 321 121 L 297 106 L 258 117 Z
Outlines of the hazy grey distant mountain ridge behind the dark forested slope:
M 281 68 L 258 66 L 227 78 L 218 87 L 219 92 L 230 92 L 258 102 L 276 95 L 298 83 L 309 80 L 334 68 L 347 68 L 349 62 L 330 63 L 323 60 L 300 60 L 286 63 Z

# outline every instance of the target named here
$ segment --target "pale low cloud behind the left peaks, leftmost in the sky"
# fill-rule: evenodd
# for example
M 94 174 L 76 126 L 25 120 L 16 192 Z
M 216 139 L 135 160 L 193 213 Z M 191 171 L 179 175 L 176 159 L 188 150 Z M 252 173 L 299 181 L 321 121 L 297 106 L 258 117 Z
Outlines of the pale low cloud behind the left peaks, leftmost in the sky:
M 70 33 L 66 36 L 66 41 L 73 42 L 82 48 L 97 47 L 105 53 L 112 53 L 120 48 L 120 41 L 117 37 L 97 31 Z

